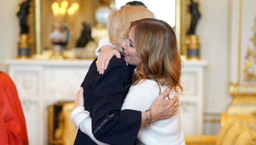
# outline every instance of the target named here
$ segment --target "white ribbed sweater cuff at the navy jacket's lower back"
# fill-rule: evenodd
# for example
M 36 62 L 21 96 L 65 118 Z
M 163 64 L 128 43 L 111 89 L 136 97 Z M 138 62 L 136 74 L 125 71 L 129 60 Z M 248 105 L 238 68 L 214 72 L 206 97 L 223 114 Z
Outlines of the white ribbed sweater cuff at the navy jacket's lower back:
M 83 106 L 76 107 L 71 113 L 71 121 L 77 128 L 80 128 L 80 124 L 90 117 L 90 112 L 85 111 Z

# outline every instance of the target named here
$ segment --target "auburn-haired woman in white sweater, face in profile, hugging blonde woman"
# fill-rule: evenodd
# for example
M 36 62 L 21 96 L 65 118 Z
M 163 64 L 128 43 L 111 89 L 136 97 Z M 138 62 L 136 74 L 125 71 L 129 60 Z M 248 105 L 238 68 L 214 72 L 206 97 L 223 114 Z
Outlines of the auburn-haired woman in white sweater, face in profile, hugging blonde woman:
M 172 88 L 166 99 L 182 92 L 181 57 L 175 32 L 169 24 L 151 18 L 133 21 L 122 47 L 125 61 L 137 66 L 122 109 L 150 110 L 161 90 Z M 140 128 L 137 145 L 185 145 L 179 112 L 169 119 L 147 121 L 147 125 L 151 126 Z

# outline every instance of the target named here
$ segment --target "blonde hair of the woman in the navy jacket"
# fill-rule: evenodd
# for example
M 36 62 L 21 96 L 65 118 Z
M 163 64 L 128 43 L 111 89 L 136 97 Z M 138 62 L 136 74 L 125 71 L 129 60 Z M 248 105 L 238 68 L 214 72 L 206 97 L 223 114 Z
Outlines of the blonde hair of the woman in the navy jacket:
M 121 9 L 112 9 L 109 13 L 107 28 L 109 41 L 116 50 L 123 54 L 121 43 L 128 38 L 130 22 L 143 19 L 156 18 L 155 14 L 143 6 L 124 5 Z

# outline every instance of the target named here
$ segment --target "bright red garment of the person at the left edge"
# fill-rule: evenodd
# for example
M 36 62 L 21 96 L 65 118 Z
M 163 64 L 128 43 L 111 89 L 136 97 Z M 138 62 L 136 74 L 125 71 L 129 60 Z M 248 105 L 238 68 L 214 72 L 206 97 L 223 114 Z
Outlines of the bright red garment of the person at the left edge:
M 27 145 L 22 106 L 12 79 L 0 72 L 0 145 Z

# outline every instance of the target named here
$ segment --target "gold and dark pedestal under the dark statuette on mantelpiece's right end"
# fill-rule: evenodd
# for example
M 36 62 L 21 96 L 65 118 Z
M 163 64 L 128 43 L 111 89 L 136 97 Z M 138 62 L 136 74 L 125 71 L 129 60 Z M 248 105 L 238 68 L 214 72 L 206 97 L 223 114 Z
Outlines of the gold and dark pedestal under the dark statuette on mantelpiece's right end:
M 196 34 L 187 35 L 187 59 L 200 59 L 199 57 L 199 40 Z

